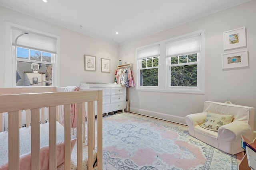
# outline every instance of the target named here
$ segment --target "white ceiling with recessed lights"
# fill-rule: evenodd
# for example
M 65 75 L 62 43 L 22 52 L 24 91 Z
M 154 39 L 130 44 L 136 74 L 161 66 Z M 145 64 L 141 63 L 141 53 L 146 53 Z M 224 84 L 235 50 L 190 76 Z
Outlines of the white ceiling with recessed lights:
M 0 6 L 120 45 L 248 1 L 0 0 Z

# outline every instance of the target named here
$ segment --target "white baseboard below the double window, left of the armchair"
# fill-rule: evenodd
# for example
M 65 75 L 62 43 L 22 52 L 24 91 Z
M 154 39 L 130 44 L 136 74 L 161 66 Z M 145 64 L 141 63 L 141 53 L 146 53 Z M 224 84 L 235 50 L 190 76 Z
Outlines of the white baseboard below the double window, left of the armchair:
M 184 117 L 130 107 L 130 112 L 186 125 Z

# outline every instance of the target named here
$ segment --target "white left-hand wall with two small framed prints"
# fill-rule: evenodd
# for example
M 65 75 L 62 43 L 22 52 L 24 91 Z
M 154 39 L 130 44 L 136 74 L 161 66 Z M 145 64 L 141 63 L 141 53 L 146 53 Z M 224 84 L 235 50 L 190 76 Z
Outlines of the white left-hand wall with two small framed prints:
M 4 87 L 4 21 L 60 36 L 60 86 L 114 82 L 114 71 L 119 60 L 117 45 L 0 6 L 0 87 Z M 96 56 L 96 72 L 84 70 L 85 54 Z M 110 59 L 110 73 L 101 72 L 100 58 Z

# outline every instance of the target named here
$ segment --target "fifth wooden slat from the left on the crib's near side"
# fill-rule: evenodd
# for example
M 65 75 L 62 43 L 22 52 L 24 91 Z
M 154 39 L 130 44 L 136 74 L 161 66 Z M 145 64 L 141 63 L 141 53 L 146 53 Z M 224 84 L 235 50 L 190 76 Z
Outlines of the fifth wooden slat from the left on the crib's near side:
M 84 117 L 82 117 L 82 107 L 83 104 L 82 103 L 78 103 L 77 104 L 77 127 L 76 127 L 76 131 L 77 131 L 77 169 L 78 170 L 82 170 L 82 166 L 83 166 L 83 160 L 82 160 L 82 156 L 83 156 L 83 150 L 81 149 L 83 146 L 83 139 L 82 139 L 82 119 L 84 119 Z

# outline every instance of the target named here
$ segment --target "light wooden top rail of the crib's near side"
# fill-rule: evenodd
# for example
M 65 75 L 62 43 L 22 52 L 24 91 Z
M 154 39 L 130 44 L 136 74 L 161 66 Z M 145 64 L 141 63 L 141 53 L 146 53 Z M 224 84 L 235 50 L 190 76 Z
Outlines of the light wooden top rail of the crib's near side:
M 0 113 L 98 100 L 98 90 L 0 96 Z

